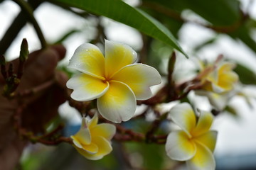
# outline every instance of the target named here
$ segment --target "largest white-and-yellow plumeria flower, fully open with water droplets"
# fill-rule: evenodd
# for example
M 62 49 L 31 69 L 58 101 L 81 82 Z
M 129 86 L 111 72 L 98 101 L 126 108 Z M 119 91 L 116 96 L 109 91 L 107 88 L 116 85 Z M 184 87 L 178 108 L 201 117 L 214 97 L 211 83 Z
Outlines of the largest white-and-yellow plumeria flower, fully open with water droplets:
M 136 100 L 152 96 L 150 86 L 160 84 L 161 76 L 153 67 L 133 64 L 137 53 L 131 47 L 105 40 L 105 57 L 95 45 L 80 45 L 68 67 L 82 72 L 67 86 L 74 89 L 76 101 L 97 98 L 100 114 L 114 123 L 127 121 L 134 115 Z

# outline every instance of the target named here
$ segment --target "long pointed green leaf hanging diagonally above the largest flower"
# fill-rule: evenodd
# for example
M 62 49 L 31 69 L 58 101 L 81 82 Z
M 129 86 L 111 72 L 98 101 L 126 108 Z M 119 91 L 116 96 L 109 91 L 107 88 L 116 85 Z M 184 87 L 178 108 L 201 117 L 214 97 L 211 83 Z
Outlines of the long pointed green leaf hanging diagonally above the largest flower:
M 60 3 L 64 6 L 71 6 L 80 8 L 90 13 L 95 13 L 100 16 L 112 18 L 115 21 L 124 23 L 127 26 L 136 28 L 146 35 L 161 40 L 176 50 L 186 55 L 185 52 L 178 45 L 174 35 L 164 27 L 159 21 L 149 16 L 147 13 L 129 6 L 120 0 L 53 0 L 53 2 Z M 186 55 L 187 57 L 187 55 Z

